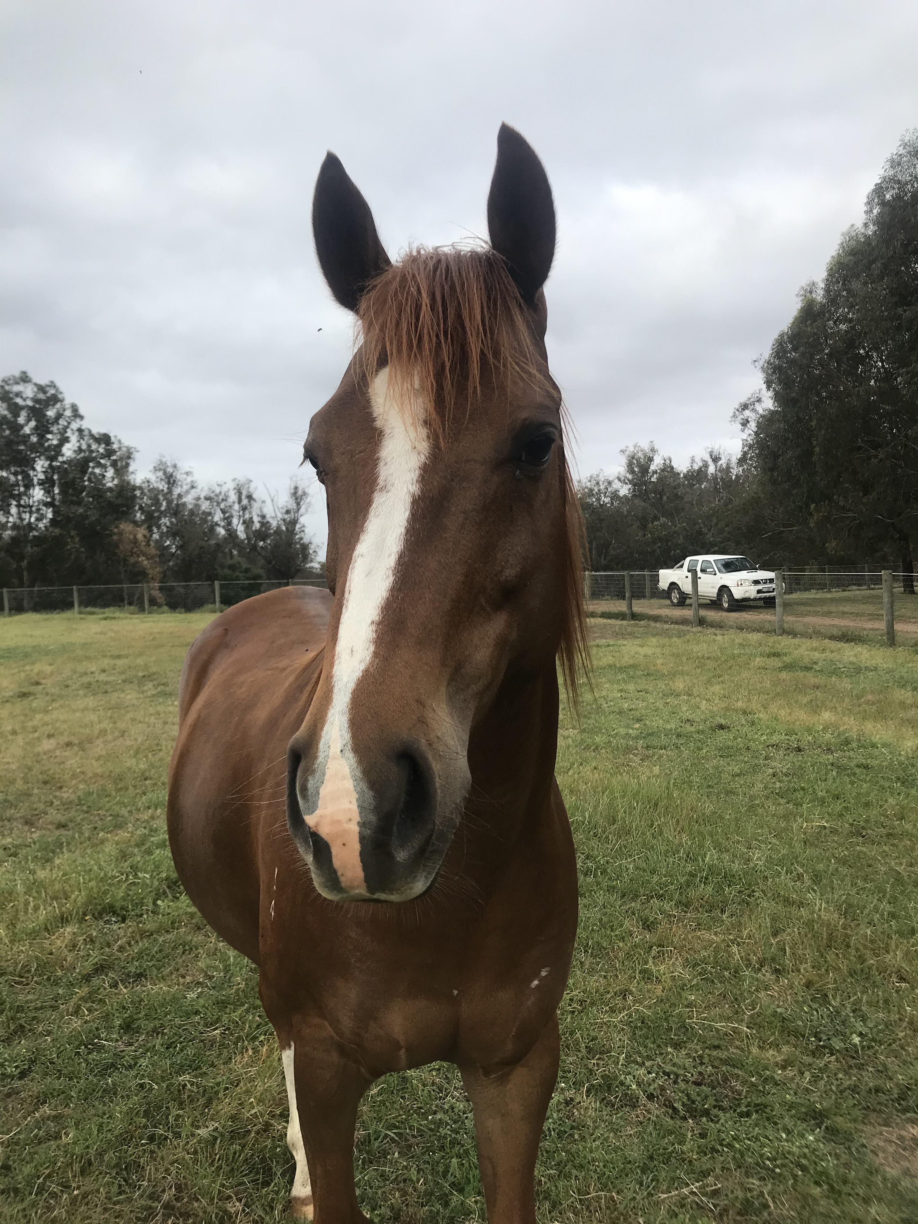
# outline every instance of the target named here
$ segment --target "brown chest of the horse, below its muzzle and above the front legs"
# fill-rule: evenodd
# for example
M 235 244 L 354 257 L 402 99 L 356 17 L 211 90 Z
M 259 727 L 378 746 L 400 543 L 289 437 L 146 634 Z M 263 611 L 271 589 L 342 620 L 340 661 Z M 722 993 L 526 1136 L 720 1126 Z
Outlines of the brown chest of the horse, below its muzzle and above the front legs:
M 263 914 L 273 934 L 262 945 L 263 979 L 289 1015 L 327 1026 L 372 1076 L 439 1060 L 510 1065 L 561 1001 L 575 905 L 530 905 L 525 922 L 510 908 L 477 925 L 403 930 L 372 912 L 319 929 L 308 908 L 294 912 L 288 895 L 288 912 L 284 901 L 274 922 L 269 907 Z

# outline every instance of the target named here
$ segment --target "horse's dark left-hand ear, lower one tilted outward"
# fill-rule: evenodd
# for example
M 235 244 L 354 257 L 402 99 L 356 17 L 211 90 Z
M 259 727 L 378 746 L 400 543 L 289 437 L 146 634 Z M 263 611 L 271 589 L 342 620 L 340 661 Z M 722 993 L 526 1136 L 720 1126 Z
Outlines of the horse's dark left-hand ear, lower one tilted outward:
M 312 197 L 312 236 L 319 267 L 335 299 L 356 312 L 364 290 L 389 267 L 370 204 L 328 153 Z

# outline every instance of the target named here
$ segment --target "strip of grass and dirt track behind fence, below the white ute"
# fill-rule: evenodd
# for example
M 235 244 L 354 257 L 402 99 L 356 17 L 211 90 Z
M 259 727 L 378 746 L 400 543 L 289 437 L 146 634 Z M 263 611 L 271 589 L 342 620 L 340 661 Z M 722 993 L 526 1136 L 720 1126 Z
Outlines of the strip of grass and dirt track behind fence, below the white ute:
M 639 588 L 643 590 L 643 588 Z M 918 646 L 918 596 L 894 595 L 896 641 Z M 596 600 L 590 611 L 597 617 L 624 619 L 624 600 Z M 662 599 L 634 600 L 636 619 L 660 624 L 692 624 L 692 601 L 674 608 Z M 709 628 L 775 632 L 775 608 L 743 607 L 723 612 L 701 600 L 701 622 Z M 834 638 L 840 641 L 884 643 L 883 592 L 800 591 L 785 597 L 785 633 L 794 636 Z

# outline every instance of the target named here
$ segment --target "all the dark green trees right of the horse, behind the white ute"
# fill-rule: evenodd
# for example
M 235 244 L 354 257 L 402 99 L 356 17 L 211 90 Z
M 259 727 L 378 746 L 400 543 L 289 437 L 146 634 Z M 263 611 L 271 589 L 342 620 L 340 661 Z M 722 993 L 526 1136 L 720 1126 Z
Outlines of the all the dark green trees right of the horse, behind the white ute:
M 689 552 L 769 565 L 881 564 L 914 592 L 918 546 L 918 131 L 907 132 L 821 282 L 758 362 L 737 459 L 678 469 L 630 447 L 580 485 L 589 563 L 645 569 Z

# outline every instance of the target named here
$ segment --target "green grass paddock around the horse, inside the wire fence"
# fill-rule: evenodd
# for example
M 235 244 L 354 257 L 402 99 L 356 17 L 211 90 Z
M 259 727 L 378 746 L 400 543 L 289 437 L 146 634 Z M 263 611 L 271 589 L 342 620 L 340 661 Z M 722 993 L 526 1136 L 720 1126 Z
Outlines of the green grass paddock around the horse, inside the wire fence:
M 164 831 L 204 616 L 0 622 L 0 1219 L 283 1218 L 255 974 Z M 543 1224 L 918 1219 L 918 652 L 594 622 Z M 357 1142 L 377 1224 L 482 1220 L 448 1067 Z

